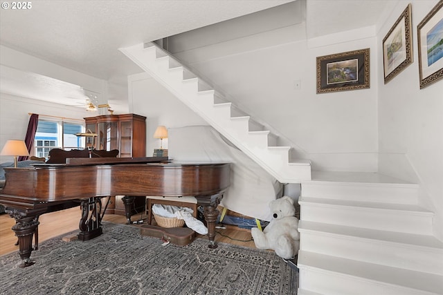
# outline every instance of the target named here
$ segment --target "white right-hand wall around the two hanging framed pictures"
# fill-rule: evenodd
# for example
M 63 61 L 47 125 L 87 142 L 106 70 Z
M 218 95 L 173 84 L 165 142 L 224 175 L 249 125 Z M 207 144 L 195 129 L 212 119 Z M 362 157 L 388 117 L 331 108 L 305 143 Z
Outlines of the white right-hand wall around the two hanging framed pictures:
M 383 82 L 383 38 L 412 4 L 413 64 Z M 379 171 L 422 188 L 421 202 L 436 212 L 435 234 L 443 239 L 443 80 L 419 89 L 417 25 L 437 1 L 399 1 L 377 36 Z

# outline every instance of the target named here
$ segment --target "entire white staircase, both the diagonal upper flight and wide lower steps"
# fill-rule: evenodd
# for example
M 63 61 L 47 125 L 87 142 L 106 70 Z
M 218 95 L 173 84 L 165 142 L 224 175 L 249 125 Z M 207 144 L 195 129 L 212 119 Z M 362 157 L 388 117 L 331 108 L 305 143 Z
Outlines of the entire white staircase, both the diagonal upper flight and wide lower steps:
M 377 173 L 311 173 L 291 147 L 155 44 L 120 49 L 282 183 L 301 183 L 298 294 L 443 294 L 443 243 L 419 187 Z

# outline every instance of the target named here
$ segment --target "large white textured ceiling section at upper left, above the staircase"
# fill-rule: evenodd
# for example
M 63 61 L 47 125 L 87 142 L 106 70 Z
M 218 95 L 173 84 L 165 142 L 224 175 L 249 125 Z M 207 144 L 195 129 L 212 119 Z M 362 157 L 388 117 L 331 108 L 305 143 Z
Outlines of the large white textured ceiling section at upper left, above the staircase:
M 153 41 L 290 2 L 288 0 L 37 0 L 0 10 L 4 46 L 111 79 L 140 71 L 118 48 Z M 127 62 L 124 62 L 127 61 Z

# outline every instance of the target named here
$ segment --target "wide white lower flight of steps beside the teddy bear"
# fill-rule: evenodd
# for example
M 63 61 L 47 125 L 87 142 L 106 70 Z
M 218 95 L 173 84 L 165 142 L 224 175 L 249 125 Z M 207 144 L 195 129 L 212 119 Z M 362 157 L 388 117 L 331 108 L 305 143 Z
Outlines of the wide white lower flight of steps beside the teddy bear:
M 443 294 L 443 243 L 417 184 L 313 172 L 302 183 L 298 294 Z

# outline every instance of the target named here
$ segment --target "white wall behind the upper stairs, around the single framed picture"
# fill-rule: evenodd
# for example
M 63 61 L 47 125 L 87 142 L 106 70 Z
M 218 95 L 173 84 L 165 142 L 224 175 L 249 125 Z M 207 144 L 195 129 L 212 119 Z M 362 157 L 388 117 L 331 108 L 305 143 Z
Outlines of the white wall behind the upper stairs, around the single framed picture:
M 201 33 L 201 39 L 211 34 L 208 29 Z M 170 43 L 192 47 L 180 37 L 181 44 Z M 374 28 L 308 41 L 302 23 L 170 50 L 215 82 L 228 100 L 278 131 L 301 157 L 313 161 L 314 169 L 372 172 L 378 151 L 377 63 L 370 64 L 370 89 L 316 94 L 316 57 L 363 48 L 370 48 L 371 60 L 377 60 Z

